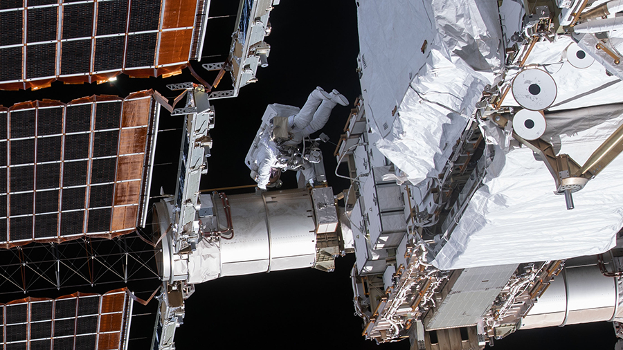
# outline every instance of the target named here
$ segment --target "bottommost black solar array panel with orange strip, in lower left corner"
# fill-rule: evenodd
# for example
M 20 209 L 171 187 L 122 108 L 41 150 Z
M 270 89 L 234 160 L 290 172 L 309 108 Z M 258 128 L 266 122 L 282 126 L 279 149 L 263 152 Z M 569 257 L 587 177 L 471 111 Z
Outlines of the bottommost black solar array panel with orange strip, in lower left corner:
M 132 299 L 126 288 L 55 300 L 27 297 L 0 304 L 3 349 L 124 349 Z

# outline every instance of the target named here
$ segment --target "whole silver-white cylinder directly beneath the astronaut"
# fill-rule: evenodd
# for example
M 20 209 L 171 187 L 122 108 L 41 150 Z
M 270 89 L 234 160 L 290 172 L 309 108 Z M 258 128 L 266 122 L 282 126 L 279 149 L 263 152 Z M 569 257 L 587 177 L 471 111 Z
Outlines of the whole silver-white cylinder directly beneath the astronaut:
M 204 235 L 192 249 L 176 242 L 191 237 L 193 232 L 172 223 L 176 211 L 173 200 L 154 203 L 154 230 L 166 232 L 156 252 L 163 281 L 201 283 L 223 276 L 312 267 L 316 263 L 316 219 L 307 190 L 235 194 L 215 202 L 207 196 L 202 197 L 201 205 L 195 218 L 197 228 L 216 225 L 218 229 Z M 195 230 L 195 226 L 190 229 Z

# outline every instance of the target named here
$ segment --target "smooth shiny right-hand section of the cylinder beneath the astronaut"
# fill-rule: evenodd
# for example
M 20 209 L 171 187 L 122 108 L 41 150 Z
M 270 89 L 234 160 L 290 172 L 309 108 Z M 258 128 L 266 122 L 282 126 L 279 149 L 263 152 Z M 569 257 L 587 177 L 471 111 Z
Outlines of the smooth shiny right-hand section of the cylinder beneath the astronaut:
M 307 190 L 228 196 L 233 238 L 221 238 L 221 277 L 314 266 L 316 224 Z

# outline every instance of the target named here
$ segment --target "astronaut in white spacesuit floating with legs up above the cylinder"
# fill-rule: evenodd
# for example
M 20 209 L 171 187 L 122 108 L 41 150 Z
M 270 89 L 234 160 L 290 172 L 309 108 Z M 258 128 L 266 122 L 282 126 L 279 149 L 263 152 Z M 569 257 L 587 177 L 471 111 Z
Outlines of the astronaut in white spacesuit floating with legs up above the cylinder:
M 316 172 L 313 165 L 298 156 L 296 150 L 307 136 L 325 126 L 333 107 L 337 104 L 346 106 L 348 100 L 337 90 L 327 93 L 318 86 L 311 91 L 303 108 L 288 117 L 288 140 L 276 140 L 270 127 L 262 131 L 255 160 L 258 169 L 257 172 L 251 169 L 251 177 L 258 183 L 260 189 L 266 190 L 269 184 L 276 183 L 280 172 L 285 170 L 300 171 L 305 176 L 305 181 L 314 185 Z

